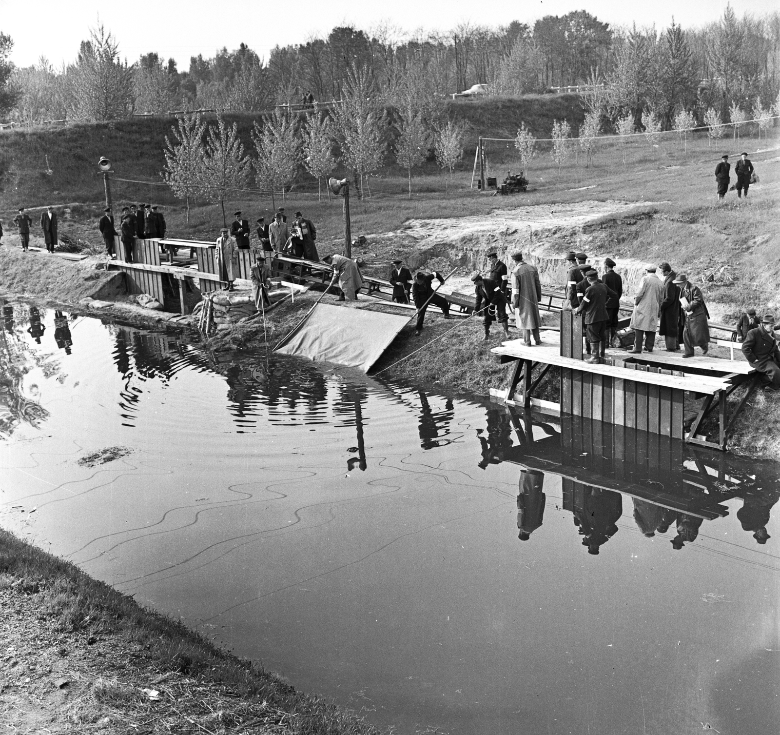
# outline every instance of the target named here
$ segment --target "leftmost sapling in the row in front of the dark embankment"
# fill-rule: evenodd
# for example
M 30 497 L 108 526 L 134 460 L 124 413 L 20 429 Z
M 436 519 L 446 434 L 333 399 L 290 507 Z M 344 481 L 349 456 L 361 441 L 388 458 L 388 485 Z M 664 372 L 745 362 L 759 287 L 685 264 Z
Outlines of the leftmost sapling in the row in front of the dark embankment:
M 190 199 L 198 194 L 204 183 L 205 132 L 206 123 L 201 122 L 200 112 L 195 112 L 182 115 L 176 126 L 171 127 L 173 142 L 165 136 L 163 178 L 173 194 L 186 201 L 187 224 L 190 223 Z

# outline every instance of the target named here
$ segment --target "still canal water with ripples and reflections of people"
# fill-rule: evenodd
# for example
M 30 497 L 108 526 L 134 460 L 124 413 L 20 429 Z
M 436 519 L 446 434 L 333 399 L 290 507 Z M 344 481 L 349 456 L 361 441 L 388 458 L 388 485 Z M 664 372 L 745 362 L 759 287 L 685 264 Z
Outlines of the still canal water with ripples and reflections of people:
M 2 310 L 0 525 L 299 689 L 398 733 L 778 730 L 777 464 Z

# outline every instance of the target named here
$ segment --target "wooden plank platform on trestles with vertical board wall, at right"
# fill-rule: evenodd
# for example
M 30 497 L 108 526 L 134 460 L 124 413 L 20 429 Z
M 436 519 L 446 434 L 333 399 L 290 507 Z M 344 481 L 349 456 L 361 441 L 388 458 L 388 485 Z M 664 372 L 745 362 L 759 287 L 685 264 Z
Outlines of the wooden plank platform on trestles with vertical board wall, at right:
M 671 353 L 625 353 L 609 350 L 600 364 L 583 360 L 583 325 L 571 311 L 561 312 L 561 332 L 543 332 L 541 345 L 520 340 L 491 350 L 502 362 L 514 362 L 509 389 L 491 391 L 511 405 L 547 408 L 607 424 L 636 428 L 651 434 L 725 449 L 726 435 L 756 385 L 755 371 L 743 361 L 693 357 Z M 534 397 L 534 391 L 552 366 L 560 368 L 558 403 Z M 534 369 L 539 368 L 534 377 Z M 726 399 L 739 385 L 751 382 L 732 417 Z M 697 416 L 686 433 L 686 396 Z M 698 435 L 701 422 L 718 410 L 718 441 Z

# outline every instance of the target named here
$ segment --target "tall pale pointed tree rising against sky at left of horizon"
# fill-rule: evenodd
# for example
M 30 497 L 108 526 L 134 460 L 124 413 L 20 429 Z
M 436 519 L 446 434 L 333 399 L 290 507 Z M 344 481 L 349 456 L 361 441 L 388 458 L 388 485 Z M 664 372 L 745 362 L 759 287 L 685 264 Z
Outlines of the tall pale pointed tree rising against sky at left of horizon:
M 133 101 L 133 76 L 119 60 L 119 44 L 102 25 L 82 41 L 76 66 L 69 69 L 73 116 L 83 120 L 124 117 Z

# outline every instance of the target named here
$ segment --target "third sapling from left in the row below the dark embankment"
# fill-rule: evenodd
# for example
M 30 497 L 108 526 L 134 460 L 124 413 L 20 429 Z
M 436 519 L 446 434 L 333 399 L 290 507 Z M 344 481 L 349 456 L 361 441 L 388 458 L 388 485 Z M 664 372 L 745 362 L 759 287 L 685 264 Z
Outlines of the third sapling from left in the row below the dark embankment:
M 254 123 L 252 141 L 257 151 L 254 164 L 257 184 L 271 190 L 271 201 L 276 206 L 275 190 L 282 190 L 282 201 L 285 201 L 285 186 L 298 172 L 300 138 L 295 120 L 289 112 L 276 109 L 273 115 L 264 117 L 262 127 Z

